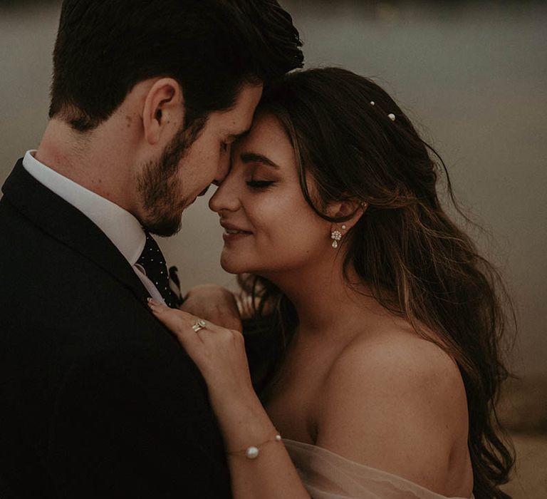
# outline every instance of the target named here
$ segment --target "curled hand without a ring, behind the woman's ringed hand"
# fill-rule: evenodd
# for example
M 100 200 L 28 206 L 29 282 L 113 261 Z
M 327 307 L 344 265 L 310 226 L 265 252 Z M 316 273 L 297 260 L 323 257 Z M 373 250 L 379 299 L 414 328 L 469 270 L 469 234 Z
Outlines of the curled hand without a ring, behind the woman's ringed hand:
M 216 284 L 200 284 L 192 287 L 184 297 L 184 303 L 180 309 L 224 326 L 226 329 L 242 330 L 234 294 Z

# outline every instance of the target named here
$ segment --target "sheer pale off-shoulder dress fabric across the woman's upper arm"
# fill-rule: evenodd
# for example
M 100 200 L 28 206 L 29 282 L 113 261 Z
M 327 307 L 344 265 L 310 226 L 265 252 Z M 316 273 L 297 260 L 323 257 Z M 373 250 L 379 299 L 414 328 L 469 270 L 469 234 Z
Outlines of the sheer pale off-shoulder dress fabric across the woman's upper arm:
M 283 443 L 313 499 L 447 499 L 397 475 L 348 461 L 325 448 L 286 438 Z

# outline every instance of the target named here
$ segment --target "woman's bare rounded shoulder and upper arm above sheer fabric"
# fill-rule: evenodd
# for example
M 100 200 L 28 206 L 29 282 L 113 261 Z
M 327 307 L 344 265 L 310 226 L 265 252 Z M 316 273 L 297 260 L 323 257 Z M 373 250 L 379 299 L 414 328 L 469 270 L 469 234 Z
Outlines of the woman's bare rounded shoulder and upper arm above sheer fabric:
M 467 446 L 462 377 L 439 346 L 405 326 L 358 335 L 333 362 L 318 413 L 318 445 L 444 492 Z

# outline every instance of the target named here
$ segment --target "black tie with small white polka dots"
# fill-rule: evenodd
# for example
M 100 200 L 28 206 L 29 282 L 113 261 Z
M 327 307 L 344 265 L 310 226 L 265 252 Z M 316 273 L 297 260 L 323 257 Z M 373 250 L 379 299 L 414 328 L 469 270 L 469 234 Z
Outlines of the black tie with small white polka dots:
M 163 257 L 162 250 L 155 242 L 154 238 L 149 232 L 145 231 L 146 244 L 145 249 L 142 250 L 137 264 L 145 269 L 146 277 L 150 279 L 157 287 L 157 290 L 165 299 L 165 303 L 168 307 L 177 307 L 182 303 L 180 299 L 179 291 L 179 279 L 177 277 L 177 268 L 171 267 L 172 279 L 170 279 L 170 273 L 167 272 L 167 264 L 165 264 L 165 258 Z M 175 290 L 172 289 L 175 287 Z

